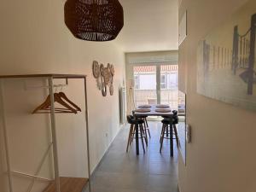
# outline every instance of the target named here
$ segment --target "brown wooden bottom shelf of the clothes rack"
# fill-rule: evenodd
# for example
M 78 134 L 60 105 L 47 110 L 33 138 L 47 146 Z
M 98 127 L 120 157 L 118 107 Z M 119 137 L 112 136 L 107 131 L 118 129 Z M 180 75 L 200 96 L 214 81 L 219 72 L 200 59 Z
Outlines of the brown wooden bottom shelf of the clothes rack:
M 84 186 L 89 182 L 88 178 L 60 177 L 61 192 L 81 192 Z M 56 192 L 55 181 L 49 183 L 44 192 Z

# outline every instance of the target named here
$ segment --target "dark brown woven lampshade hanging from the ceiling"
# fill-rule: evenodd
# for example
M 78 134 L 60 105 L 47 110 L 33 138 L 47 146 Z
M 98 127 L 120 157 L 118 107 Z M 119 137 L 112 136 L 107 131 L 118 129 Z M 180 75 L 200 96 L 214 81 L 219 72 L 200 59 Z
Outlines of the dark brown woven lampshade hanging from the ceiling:
M 118 0 L 67 0 L 65 23 L 76 38 L 110 41 L 124 26 L 124 10 Z

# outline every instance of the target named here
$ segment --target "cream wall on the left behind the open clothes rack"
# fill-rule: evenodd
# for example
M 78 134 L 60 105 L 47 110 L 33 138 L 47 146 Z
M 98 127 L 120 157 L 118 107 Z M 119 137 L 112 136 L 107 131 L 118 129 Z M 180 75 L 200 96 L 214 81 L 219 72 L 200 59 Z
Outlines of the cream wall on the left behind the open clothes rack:
M 64 24 L 63 4 L 63 1 L 50 0 L 43 2 L 15 0 L 1 3 L 0 74 L 88 75 L 90 160 L 93 170 L 120 128 L 118 89 L 125 80 L 125 59 L 123 50 L 114 42 L 91 43 L 73 38 Z M 107 97 L 103 97 L 101 91 L 97 90 L 96 79 L 91 73 L 94 60 L 105 65 L 108 62 L 114 65 L 113 96 L 109 96 L 108 93 Z M 33 81 L 28 83 L 42 84 Z M 63 90 L 84 109 L 82 82 L 71 80 L 69 83 L 69 86 Z M 4 90 L 5 105 L 8 109 L 6 116 L 9 147 L 13 149 L 11 150 L 12 167 L 16 171 L 33 173 L 49 143 L 49 126 L 45 126 L 49 125 L 49 119 L 44 115 L 32 115 L 30 112 L 44 101 L 47 93 L 42 92 L 43 90 L 26 91 L 23 88 L 23 81 L 20 80 L 5 82 Z M 85 136 L 84 110 L 78 115 L 58 115 L 57 120 L 61 174 L 82 176 L 86 172 L 84 169 L 86 143 L 82 140 Z M 49 160 L 41 174 L 48 177 L 51 174 L 50 170 Z M 23 177 L 15 177 L 15 191 L 25 191 L 28 181 Z M 2 192 L 3 185 L 0 186 Z M 40 191 L 41 183 L 37 186 Z

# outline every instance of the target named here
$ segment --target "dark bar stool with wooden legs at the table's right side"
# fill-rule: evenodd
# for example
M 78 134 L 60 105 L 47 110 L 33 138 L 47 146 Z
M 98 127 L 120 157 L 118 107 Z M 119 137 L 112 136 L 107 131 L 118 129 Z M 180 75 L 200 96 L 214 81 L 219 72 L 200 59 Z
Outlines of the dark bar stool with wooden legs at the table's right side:
M 162 126 L 161 135 L 160 135 L 160 153 L 162 152 L 164 139 L 169 139 L 170 142 L 172 139 L 176 139 L 177 148 L 178 148 L 178 137 L 177 137 L 177 127 L 176 127 L 178 123 L 178 116 L 177 116 L 177 111 L 172 111 L 172 113 L 173 113 L 172 118 L 168 117 L 161 121 L 163 126 Z M 173 129 L 170 127 L 170 125 L 172 125 Z M 170 128 L 170 131 L 169 131 L 169 128 Z M 175 136 L 175 138 L 173 138 L 173 135 Z

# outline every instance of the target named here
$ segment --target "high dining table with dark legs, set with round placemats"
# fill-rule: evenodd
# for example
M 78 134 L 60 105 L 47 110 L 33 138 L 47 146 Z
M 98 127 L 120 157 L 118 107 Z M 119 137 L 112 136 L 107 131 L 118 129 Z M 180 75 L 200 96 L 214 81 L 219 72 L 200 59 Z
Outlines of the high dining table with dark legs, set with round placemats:
M 140 112 L 140 109 L 147 109 L 144 110 L 144 112 Z M 160 110 L 160 109 L 166 109 L 166 110 Z M 161 112 L 160 112 L 161 111 Z M 165 112 L 163 112 L 165 111 Z M 138 106 L 135 110 L 133 110 L 133 116 L 136 119 L 136 124 L 135 124 L 135 138 L 136 138 L 136 153 L 137 155 L 140 154 L 140 149 L 139 149 L 139 132 L 138 132 L 138 120 L 140 118 L 143 118 L 145 116 L 161 116 L 165 118 L 170 118 L 172 119 L 173 113 L 172 109 L 170 108 L 169 105 L 141 105 Z M 173 132 L 173 127 L 172 127 L 172 120 L 170 120 L 170 153 L 171 156 L 173 157 L 173 137 L 172 137 L 172 132 Z

